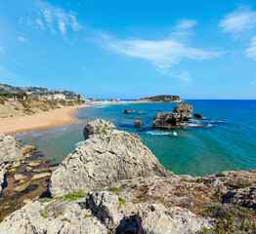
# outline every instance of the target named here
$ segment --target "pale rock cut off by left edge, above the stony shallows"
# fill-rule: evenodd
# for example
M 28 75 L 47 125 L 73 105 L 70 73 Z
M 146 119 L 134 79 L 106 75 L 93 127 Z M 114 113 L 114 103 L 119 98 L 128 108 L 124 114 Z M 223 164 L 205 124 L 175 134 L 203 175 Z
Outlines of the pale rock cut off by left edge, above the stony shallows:
M 15 137 L 0 135 L 0 192 L 6 172 L 20 165 L 23 154 L 16 145 Z

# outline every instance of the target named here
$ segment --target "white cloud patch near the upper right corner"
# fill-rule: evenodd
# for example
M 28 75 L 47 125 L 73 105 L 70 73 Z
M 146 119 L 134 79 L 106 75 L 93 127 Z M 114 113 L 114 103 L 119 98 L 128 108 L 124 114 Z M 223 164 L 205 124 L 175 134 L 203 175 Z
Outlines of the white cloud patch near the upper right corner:
M 256 12 L 250 6 L 240 7 L 221 20 L 219 26 L 224 32 L 233 33 L 235 37 L 241 36 L 256 26 Z

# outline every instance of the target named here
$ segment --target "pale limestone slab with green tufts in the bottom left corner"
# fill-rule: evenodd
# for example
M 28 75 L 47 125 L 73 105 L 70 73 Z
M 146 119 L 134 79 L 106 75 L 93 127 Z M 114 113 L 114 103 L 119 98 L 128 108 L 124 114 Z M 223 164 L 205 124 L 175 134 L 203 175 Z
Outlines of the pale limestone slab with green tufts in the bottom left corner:
M 107 234 L 107 228 L 77 202 L 28 202 L 0 223 L 8 234 Z

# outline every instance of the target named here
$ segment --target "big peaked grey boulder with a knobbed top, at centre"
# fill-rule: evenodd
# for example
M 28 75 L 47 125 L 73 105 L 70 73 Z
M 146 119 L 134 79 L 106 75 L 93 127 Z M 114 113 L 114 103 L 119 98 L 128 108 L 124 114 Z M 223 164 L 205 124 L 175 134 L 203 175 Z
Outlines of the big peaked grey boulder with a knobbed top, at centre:
M 126 178 L 172 175 L 140 137 L 117 131 L 105 120 L 87 124 L 84 138 L 52 174 L 49 188 L 53 196 L 102 188 Z

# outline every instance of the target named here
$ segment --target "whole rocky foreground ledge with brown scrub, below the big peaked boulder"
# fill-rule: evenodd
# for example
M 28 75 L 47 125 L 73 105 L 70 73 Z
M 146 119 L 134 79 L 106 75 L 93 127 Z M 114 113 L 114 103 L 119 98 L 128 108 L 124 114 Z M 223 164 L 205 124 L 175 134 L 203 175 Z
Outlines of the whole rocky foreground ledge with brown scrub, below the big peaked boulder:
M 32 234 L 255 233 L 255 190 L 255 170 L 205 177 L 136 177 L 101 191 L 28 202 L 0 223 L 0 230 Z

